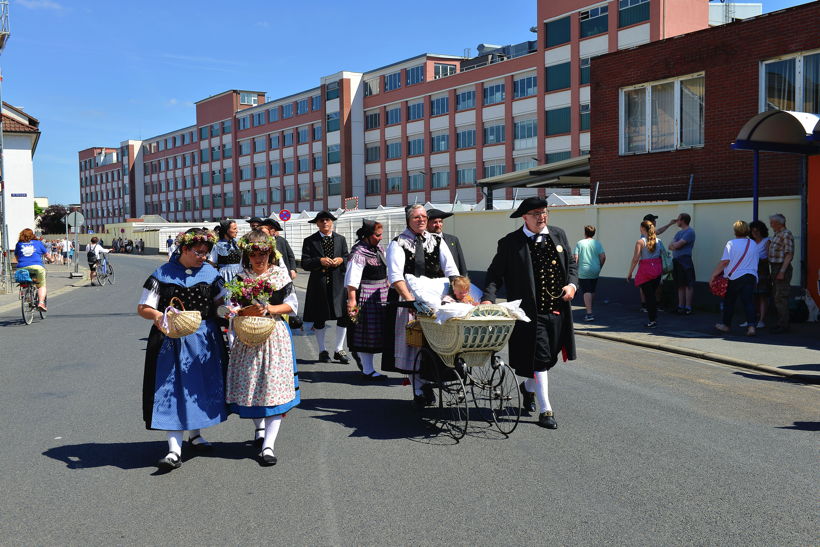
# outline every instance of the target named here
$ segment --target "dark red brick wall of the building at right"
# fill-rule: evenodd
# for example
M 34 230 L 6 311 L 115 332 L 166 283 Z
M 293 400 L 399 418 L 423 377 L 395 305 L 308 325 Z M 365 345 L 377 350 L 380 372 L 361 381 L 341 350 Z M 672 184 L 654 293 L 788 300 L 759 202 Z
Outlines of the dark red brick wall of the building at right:
M 747 197 L 753 153 L 731 143 L 758 113 L 760 62 L 820 48 L 820 2 L 613 52 L 592 61 L 591 184 L 599 203 Z M 620 156 L 619 90 L 705 73 L 704 147 Z M 803 157 L 761 153 L 760 194 L 800 191 Z

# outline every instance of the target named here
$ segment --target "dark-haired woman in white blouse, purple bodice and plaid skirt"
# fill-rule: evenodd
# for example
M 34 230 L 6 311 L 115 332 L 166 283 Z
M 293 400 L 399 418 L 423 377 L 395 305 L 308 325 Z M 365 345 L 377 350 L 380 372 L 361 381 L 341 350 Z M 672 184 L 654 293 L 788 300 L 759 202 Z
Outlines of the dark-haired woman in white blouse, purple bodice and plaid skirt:
M 387 293 L 387 259 L 381 246 L 383 227 L 374 220 L 362 220 L 356 231 L 358 241 L 350 249 L 345 272 L 347 347 L 359 356 L 365 380 L 383 381 L 387 376 L 373 368 L 376 354 L 384 350 Z

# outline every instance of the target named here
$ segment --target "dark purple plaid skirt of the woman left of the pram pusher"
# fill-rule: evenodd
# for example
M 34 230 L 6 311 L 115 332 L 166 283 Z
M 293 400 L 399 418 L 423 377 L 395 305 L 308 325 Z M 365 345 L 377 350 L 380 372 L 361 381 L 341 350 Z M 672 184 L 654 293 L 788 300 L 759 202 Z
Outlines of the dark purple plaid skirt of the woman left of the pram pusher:
M 359 317 L 347 329 L 347 346 L 350 351 L 381 353 L 384 349 L 384 330 L 387 309 L 387 279 L 362 280 L 358 290 Z

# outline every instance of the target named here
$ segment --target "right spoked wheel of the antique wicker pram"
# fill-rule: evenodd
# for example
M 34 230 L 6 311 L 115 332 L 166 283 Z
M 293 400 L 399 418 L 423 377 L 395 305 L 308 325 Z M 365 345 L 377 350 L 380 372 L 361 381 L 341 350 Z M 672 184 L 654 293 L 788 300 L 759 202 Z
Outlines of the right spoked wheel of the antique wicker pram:
M 521 419 L 521 392 L 512 368 L 494 355 L 490 362 L 469 369 L 473 402 L 481 416 L 504 435 L 512 433 Z

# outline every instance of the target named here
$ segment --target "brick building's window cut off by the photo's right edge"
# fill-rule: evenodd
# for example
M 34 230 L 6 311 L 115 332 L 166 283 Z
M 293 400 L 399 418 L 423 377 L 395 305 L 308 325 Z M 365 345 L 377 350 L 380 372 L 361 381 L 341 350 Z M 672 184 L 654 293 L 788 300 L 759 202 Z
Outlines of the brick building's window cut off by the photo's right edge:
M 820 114 L 820 52 L 764 62 L 760 110 Z

